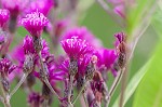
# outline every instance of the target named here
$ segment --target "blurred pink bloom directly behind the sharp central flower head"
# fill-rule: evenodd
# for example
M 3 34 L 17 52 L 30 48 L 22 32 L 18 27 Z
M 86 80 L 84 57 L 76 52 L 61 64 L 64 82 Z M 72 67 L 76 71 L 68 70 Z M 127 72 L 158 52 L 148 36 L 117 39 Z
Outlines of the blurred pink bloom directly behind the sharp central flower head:
M 78 37 L 78 39 L 86 40 L 94 48 L 102 46 L 99 39 L 95 38 L 86 27 L 71 28 L 65 32 L 63 39 L 70 39 L 73 36 Z

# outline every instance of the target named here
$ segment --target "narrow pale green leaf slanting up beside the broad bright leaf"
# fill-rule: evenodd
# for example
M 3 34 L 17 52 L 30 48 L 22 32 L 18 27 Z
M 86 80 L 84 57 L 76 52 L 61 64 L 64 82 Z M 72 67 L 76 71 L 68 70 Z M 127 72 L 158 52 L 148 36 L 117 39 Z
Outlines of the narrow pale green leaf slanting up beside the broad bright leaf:
M 132 96 L 132 94 L 135 92 L 137 85 L 139 84 L 140 80 L 143 79 L 143 77 L 145 76 L 148 67 L 150 66 L 150 63 L 152 62 L 152 58 L 149 59 L 149 62 L 147 64 L 145 64 L 145 66 L 131 79 L 129 85 L 126 86 L 125 90 L 125 97 L 123 101 L 123 107 L 126 104 L 126 102 L 129 101 L 129 98 Z M 120 96 L 118 96 L 118 98 L 116 99 L 114 104 L 112 107 L 118 107 L 119 106 L 119 99 Z

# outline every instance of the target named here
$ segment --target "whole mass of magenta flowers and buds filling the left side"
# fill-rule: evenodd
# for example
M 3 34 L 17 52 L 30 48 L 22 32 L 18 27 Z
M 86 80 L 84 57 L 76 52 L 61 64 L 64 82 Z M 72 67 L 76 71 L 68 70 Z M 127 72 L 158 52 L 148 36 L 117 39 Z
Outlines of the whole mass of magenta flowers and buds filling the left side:
M 49 107 L 53 97 L 58 98 L 60 107 L 72 107 L 76 103 L 76 89 L 80 95 L 86 92 L 86 98 L 92 93 L 86 99 L 90 107 L 100 104 L 107 97 L 105 93 L 108 90 L 104 85 L 108 81 L 108 71 L 116 78 L 121 67 L 121 57 L 125 55 L 123 32 L 114 35 L 113 49 L 106 49 L 86 27 L 72 27 L 70 16 L 77 10 L 77 2 L 72 0 L 65 1 L 65 4 L 70 2 L 67 3 L 68 6 L 62 5 L 59 0 L 0 2 L 3 8 L 0 9 L 0 82 L 2 91 L 4 90 L 2 99 L 12 97 L 22 84 L 30 107 Z M 65 11 L 65 18 L 57 14 L 57 11 L 56 11 L 59 6 Z M 53 14 L 53 11 L 56 13 Z M 19 26 L 29 34 L 24 35 L 23 41 L 22 37 L 16 36 Z M 17 45 L 13 43 L 14 48 L 9 51 L 14 40 L 21 42 L 15 42 Z M 16 78 L 21 81 L 10 92 L 10 84 Z M 33 85 L 37 83 L 41 84 L 41 92 L 35 90 Z M 3 102 L 10 107 L 8 103 L 10 99 Z

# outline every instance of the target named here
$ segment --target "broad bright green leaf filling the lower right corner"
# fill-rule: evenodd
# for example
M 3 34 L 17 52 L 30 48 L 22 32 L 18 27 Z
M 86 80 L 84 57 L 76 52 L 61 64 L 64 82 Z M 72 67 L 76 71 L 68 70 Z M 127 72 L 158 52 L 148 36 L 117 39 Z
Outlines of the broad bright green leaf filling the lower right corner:
M 162 41 L 135 93 L 133 107 L 162 107 Z

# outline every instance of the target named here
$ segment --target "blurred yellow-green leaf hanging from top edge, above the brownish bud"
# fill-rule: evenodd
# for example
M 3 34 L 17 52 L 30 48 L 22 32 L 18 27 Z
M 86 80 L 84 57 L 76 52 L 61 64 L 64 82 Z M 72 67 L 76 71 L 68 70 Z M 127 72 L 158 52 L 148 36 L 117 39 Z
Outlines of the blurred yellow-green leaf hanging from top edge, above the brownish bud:
M 152 11 L 157 0 L 127 0 L 130 1 L 130 10 L 127 10 L 127 34 L 133 35 L 133 31 L 141 25 L 150 12 Z M 134 1 L 134 2 L 133 2 Z

